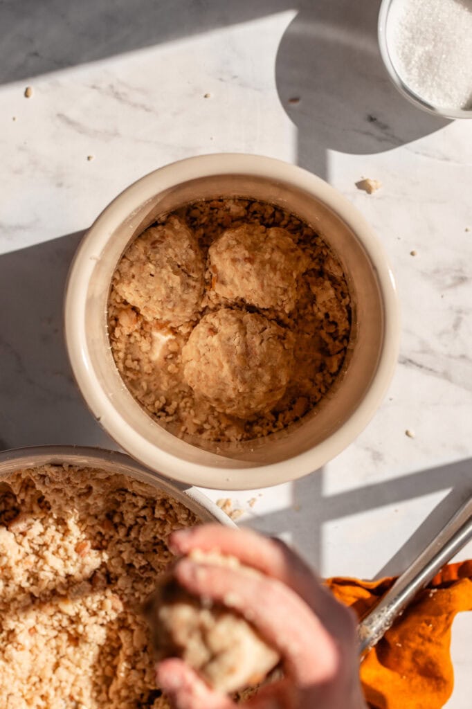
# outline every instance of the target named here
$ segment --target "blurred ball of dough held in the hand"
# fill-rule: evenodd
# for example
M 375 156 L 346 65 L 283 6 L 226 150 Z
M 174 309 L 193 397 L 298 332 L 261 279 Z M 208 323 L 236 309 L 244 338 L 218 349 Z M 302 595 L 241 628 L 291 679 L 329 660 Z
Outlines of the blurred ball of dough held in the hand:
M 211 556 L 210 563 L 225 564 L 221 557 L 219 562 Z M 257 573 L 252 569 L 247 572 Z M 279 663 L 279 654 L 242 615 L 223 605 L 203 605 L 172 576 L 162 581 L 145 613 L 157 660 L 181 657 L 220 692 L 254 686 Z

